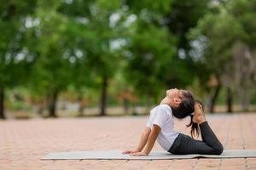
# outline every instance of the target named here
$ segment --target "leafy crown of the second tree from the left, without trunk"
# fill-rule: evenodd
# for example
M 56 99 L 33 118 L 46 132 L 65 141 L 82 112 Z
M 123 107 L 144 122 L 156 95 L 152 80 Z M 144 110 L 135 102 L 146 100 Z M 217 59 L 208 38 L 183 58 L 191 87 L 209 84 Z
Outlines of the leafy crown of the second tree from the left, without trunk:
M 69 59 L 63 57 L 67 50 L 67 22 L 54 11 L 41 12 L 40 24 L 34 29 L 40 35 L 33 37 L 30 52 L 35 54 L 32 72 L 32 87 L 44 93 L 67 87 L 70 72 Z M 44 48 L 42 48 L 44 47 Z

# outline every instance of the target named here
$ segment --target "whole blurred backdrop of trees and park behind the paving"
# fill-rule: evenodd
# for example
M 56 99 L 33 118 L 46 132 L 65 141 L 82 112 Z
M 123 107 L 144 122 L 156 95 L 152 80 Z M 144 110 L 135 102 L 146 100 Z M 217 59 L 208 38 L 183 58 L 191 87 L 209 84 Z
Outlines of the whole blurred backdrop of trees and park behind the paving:
M 168 88 L 256 111 L 256 0 L 0 0 L 0 118 L 144 115 Z

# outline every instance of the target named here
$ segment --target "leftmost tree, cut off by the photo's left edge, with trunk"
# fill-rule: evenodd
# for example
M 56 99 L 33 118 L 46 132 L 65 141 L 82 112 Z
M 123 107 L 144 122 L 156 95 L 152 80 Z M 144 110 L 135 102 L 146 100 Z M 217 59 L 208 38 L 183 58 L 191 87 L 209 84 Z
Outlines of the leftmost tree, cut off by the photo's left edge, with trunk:
M 24 82 L 32 64 L 24 42 L 24 20 L 36 1 L 2 1 L 0 4 L 0 118 L 4 116 L 4 94 Z

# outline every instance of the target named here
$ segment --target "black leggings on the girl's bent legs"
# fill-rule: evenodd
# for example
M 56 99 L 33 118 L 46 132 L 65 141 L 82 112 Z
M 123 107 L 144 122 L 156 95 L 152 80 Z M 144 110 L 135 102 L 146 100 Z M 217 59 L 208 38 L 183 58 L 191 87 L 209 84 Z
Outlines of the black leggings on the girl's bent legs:
M 190 136 L 179 133 L 174 140 L 169 152 L 177 155 L 184 154 L 207 154 L 220 155 L 223 152 L 223 145 L 219 142 L 216 135 L 212 132 L 207 122 L 200 125 L 201 140 L 192 139 Z

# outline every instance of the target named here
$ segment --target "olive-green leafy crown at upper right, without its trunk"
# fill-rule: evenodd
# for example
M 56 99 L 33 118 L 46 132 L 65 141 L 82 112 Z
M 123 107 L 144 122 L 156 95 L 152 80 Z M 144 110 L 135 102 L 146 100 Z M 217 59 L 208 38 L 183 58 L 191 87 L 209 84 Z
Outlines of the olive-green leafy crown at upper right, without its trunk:
M 246 8 L 250 4 L 249 2 L 251 1 L 230 1 L 226 4 L 228 9 L 225 6 L 220 6 L 218 14 L 205 15 L 196 28 L 189 33 L 191 38 L 201 44 L 202 54 L 197 55 L 205 56 L 206 63 L 211 63 L 208 65 L 208 69 L 218 75 L 224 71 L 225 64 L 230 61 L 234 44 L 248 42 L 248 37 L 253 37 L 256 30 L 256 27 L 250 26 L 254 23 L 253 18 L 248 17 L 250 20 L 247 20 L 248 27 L 253 28 L 252 31 L 249 31 L 246 28 L 247 25 L 241 21 L 244 17 L 253 15 L 251 14 L 253 8 L 251 11 Z M 252 42 L 249 44 L 253 45 Z

